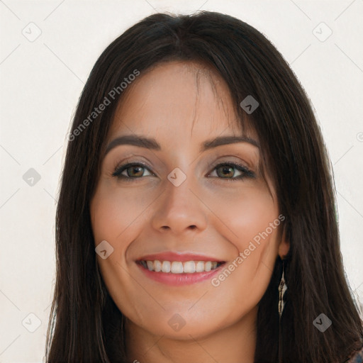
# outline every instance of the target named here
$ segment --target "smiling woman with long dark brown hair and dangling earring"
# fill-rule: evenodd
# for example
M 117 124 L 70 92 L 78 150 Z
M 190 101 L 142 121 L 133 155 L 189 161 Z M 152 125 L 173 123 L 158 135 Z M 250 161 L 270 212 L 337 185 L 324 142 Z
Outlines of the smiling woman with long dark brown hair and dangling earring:
M 362 361 L 320 129 L 255 28 L 145 18 L 68 140 L 47 362 Z

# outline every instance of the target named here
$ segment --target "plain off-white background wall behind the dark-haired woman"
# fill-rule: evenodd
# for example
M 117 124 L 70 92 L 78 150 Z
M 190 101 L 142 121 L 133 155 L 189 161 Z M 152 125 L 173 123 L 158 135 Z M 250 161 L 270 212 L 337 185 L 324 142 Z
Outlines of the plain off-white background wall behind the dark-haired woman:
M 0 1 L 0 363 L 44 359 L 55 283 L 60 172 L 66 136 L 91 67 L 112 40 L 141 18 L 156 11 L 197 9 L 228 13 L 255 26 L 282 53 L 306 89 L 334 167 L 347 277 L 363 301 L 363 0 L 4 0 Z M 37 28 L 41 34 L 33 40 Z M 329 28 L 333 33 L 325 40 Z M 40 174 L 33 186 L 23 180 L 30 168 Z M 30 333 L 37 327 L 37 317 L 40 326 Z

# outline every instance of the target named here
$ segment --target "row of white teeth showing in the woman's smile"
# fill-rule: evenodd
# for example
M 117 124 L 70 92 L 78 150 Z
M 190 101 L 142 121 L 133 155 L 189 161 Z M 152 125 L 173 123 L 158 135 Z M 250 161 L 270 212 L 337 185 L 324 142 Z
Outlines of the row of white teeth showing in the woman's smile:
M 216 261 L 141 261 L 143 267 L 155 272 L 171 272 L 172 274 L 194 274 L 194 272 L 209 272 L 219 267 Z

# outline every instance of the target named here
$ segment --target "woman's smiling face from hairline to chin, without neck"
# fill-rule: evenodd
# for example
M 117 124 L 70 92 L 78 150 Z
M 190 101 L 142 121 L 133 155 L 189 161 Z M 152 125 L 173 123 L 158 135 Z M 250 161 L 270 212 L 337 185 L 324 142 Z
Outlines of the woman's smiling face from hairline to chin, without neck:
M 91 201 L 109 294 L 130 326 L 155 335 L 255 321 L 289 248 L 274 186 L 267 176 L 270 195 L 258 172 L 259 140 L 242 139 L 228 87 L 203 65 L 158 65 L 128 87 Z

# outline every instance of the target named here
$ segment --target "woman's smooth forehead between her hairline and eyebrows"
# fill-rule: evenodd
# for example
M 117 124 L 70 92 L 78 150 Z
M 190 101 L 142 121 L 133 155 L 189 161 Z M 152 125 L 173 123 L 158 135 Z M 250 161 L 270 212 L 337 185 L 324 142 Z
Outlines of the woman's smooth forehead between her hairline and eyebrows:
M 164 62 L 142 72 L 116 109 L 111 135 L 242 135 L 227 84 L 201 62 Z M 111 137 L 110 135 L 110 137 Z M 248 136 L 256 138 L 250 128 Z

